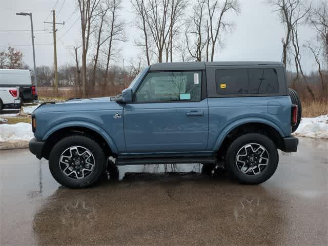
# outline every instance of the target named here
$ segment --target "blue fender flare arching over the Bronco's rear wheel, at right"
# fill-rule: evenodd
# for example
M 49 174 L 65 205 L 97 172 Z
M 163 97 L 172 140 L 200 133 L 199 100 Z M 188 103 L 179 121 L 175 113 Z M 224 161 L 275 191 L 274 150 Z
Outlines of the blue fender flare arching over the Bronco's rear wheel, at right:
M 257 117 L 252 117 L 252 118 L 242 118 L 242 119 L 238 119 L 233 121 L 231 124 L 229 124 L 227 127 L 225 127 L 219 134 L 219 136 L 217 137 L 214 147 L 213 147 L 213 151 L 218 151 L 224 138 L 227 137 L 227 135 L 234 130 L 235 128 L 244 125 L 244 124 L 248 124 L 248 123 L 262 123 L 265 125 L 268 125 L 272 128 L 274 128 L 281 137 L 285 137 L 285 135 L 283 134 L 283 132 L 281 131 L 281 129 L 274 124 L 272 121 L 269 121 L 267 119 L 263 119 L 263 118 L 257 118 Z

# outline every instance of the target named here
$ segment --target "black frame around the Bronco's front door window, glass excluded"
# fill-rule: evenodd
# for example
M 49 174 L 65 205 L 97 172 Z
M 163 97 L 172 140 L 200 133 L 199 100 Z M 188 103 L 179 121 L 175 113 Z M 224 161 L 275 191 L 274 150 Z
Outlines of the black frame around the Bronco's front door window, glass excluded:
M 139 90 L 140 86 L 142 83 L 144 83 L 144 80 L 146 79 L 147 75 L 149 73 L 168 73 L 168 72 L 201 72 L 201 88 L 200 88 L 200 100 L 175 100 L 175 101 L 147 101 L 147 102 L 137 102 L 135 100 L 135 93 Z M 206 70 L 205 69 L 192 69 L 192 70 L 152 70 L 152 71 L 147 71 L 144 77 L 142 77 L 138 87 L 136 90 L 133 92 L 132 95 L 132 102 L 130 104 L 168 104 L 168 103 L 199 103 L 203 99 L 207 98 L 207 87 L 206 87 Z

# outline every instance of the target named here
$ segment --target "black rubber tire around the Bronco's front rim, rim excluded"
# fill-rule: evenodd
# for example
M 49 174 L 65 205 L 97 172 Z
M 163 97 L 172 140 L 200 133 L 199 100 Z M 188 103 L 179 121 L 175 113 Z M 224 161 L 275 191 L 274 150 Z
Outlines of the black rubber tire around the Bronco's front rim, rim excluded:
M 73 146 L 83 147 L 89 150 L 94 158 L 94 168 L 91 173 L 81 179 L 74 179 L 64 174 L 59 167 L 59 159 L 62 153 Z M 103 149 L 97 144 L 96 141 L 87 136 L 72 135 L 61 139 L 53 147 L 49 155 L 49 169 L 54 179 L 60 185 L 67 188 L 86 188 L 94 185 L 99 179 L 101 174 L 106 170 L 107 157 Z

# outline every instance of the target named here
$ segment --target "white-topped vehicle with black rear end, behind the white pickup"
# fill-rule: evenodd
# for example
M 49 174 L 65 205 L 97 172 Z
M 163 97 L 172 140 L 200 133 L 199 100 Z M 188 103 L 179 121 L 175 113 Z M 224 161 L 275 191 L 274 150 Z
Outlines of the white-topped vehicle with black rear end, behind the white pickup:
M 30 70 L 0 69 L 0 87 L 19 87 L 22 102 L 37 100 L 36 87 L 32 84 Z

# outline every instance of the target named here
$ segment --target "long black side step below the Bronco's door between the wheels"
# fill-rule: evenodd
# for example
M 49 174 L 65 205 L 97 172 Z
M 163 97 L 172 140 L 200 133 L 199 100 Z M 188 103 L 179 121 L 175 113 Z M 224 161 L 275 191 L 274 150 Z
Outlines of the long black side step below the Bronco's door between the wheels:
M 118 156 L 115 161 L 117 166 L 124 165 L 149 165 L 149 164 L 178 164 L 178 163 L 217 163 L 216 156 L 181 156 L 181 157 L 144 157 L 127 158 Z

